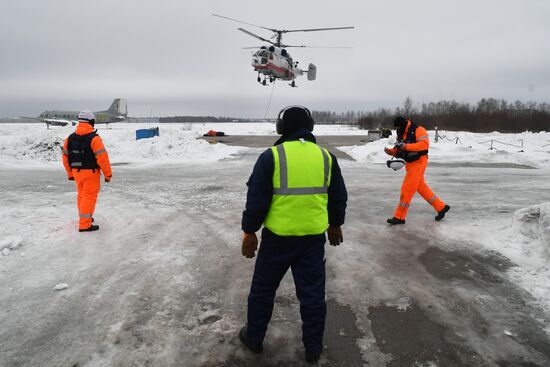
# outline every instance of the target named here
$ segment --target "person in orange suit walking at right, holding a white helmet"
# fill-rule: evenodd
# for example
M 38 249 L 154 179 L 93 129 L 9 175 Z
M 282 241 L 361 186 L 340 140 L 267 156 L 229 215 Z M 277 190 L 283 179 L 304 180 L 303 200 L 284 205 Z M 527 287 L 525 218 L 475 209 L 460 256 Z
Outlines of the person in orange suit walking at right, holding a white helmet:
M 428 132 L 422 126 L 415 125 L 401 116 L 397 117 L 393 124 L 397 128 L 397 144 L 391 149 L 384 148 L 384 151 L 391 156 L 402 158 L 406 162 L 407 174 L 401 186 L 399 205 L 393 218 L 387 222 L 391 225 L 405 224 L 412 197 L 417 191 L 437 211 L 435 220 L 440 221 L 451 207 L 437 197 L 424 181 L 430 147 Z

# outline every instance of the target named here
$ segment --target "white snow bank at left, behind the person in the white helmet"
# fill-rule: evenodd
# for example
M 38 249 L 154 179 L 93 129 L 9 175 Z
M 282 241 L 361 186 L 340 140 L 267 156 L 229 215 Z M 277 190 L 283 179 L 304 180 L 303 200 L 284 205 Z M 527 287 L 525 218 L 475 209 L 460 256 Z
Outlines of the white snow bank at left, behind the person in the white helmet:
M 136 141 L 135 131 L 147 127 L 143 124 L 100 126 L 98 134 L 111 162 L 214 161 L 245 149 L 198 140 L 199 133 L 184 124 L 162 125 L 160 136 Z M 42 124 L 0 124 L 0 162 L 59 164 L 63 141 L 73 131 L 72 126 L 48 130 Z

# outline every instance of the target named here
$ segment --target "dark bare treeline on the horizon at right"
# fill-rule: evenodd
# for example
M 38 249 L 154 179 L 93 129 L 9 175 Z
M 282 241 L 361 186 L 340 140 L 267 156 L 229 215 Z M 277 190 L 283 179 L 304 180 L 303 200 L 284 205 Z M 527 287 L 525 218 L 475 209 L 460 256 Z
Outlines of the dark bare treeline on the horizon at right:
M 483 98 L 476 104 L 457 101 L 422 103 L 419 107 L 408 97 L 403 106 L 367 112 L 357 119 L 362 129 L 391 127 L 395 116 L 404 116 L 427 129 L 472 132 L 550 131 L 550 104 L 537 102 L 507 102 L 504 99 Z

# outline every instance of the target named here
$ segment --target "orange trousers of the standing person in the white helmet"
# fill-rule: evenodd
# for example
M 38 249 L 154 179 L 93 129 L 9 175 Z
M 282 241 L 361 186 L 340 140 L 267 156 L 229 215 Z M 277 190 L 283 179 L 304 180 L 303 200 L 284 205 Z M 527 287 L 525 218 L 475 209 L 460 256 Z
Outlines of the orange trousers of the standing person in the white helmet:
M 74 169 L 72 170 L 78 191 L 78 228 L 86 229 L 92 225 L 92 216 L 94 215 L 95 203 L 99 188 L 101 187 L 99 169 Z

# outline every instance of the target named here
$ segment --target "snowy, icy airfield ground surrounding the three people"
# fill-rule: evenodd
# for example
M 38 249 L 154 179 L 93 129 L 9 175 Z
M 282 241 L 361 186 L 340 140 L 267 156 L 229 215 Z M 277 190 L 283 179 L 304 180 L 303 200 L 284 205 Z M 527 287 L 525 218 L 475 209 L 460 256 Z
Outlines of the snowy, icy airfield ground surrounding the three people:
M 80 234 L 60 163 L 74 128 L 0 124 L 0 366 L 302 365 L 289 276 L 264 355 L 236 338 L 253 270 L 240 215 L 261 150 L 196 139 L 274 125 L 164 124 L 135 141 L 146 127 L 100 127 L 113 181 L 100 231 Z M 327 298 L 361 335 L 336 328 L 321 365 L 343 365 L 334 338 L 365 366 L 550 365 L 550 133 L 440 134 L 462 143 L 434 144 L 430 131 L 426 180 L 452 207 L 440 223 L 416 197 L 405 226 L 385 224 L 403 177 L 380 164 L 391 138 L 341 148 L 355 161 L 340 161 L 350 199 L 345 242 L 327 246 Z

